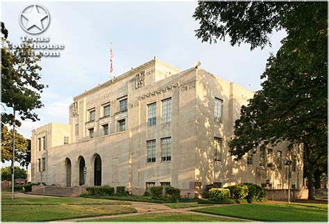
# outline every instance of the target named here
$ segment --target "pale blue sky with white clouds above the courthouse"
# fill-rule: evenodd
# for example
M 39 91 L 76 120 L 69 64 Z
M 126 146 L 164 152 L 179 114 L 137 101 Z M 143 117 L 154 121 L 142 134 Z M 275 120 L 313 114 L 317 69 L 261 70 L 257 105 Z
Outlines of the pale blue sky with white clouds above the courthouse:
M 26 33 L 19 16 L 26 6 L 40 4 L 50 14 L 48 28 L 40 34 Z M 69 123 L 73 97 L 109 80 L 110 42 L 114 52 L 112 75 L 119 76 L 154 56 L 180 69 L 201 67 L 222 79 L 250 90 L 260 90 L 269 53 L 276 53 L 286 33 L 271 35 L 272 47 L 250 50 L 249 44 L 232 47 L 229 38 L 217 44 L 195 37 L 199 28 L 192 18 L 196 2 L 2 2 L 1 21 L 8 40 L 22 43 L 22 36 L 49 38 L 47 44 L 64 44 L 59 57 L 40 61 L 44 108 L 35 110 L 38 122 L 22 122 L 18 129 L 26 138 L 31 130 L 49 122 Z

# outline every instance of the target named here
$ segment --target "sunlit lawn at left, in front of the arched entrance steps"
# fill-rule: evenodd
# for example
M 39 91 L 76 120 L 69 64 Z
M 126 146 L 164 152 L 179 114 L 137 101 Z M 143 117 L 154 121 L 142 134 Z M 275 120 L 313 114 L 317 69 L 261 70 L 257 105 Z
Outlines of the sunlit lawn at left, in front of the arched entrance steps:
M 123 201 L 80 197 L 2 198 L 3 222 L 54 221 L 137 212 Z

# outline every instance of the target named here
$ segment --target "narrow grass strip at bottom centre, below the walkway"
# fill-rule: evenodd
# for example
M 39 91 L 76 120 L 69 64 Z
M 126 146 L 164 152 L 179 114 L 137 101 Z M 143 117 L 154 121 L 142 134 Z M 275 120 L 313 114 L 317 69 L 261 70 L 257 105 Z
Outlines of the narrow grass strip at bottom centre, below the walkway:
M 111 217 L 90 222 L 234 222 L 223 217 L 183 214 L 183 213 L 156 213 L 146 215 L 135 215 L 127 217 Z

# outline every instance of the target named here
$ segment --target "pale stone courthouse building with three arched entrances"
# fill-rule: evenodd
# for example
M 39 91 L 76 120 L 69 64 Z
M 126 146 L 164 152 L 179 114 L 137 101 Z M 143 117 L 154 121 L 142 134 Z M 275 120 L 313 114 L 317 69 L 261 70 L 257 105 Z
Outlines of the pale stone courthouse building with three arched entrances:
M 228 152 L 234 123 L 253 92 L 201 69 L 180 70 L 154 58 L 74 97 L 69 124 L 32 131 L 32 182 L 61 187 L 153 185 L 182 193 L 214 183 L 263 188 L 303 182 L 303 149 L 286 143 L 255 148 L 242 160 Z M 56 108 L 54 108 L 56 112 Z

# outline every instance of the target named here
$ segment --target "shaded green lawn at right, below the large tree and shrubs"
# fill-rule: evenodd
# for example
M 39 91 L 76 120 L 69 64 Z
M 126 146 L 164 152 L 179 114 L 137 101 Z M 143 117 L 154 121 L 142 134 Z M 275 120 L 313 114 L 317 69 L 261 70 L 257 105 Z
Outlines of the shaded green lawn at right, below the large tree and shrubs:
M 327 222 L 327 204 L 238 204 L 193 210 L 268 222 Z

